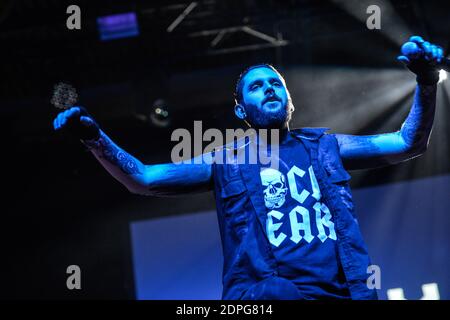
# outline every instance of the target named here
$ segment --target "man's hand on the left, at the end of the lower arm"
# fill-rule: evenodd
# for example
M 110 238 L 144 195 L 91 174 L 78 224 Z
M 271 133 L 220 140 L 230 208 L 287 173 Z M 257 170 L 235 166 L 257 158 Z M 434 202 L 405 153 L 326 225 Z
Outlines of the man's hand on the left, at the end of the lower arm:
M 82 140 L 97 140 L 100 128 L 87 110 L 83 107 L 72 107 L 60 112 L 53 120 L 53 128 L 66 130 Z

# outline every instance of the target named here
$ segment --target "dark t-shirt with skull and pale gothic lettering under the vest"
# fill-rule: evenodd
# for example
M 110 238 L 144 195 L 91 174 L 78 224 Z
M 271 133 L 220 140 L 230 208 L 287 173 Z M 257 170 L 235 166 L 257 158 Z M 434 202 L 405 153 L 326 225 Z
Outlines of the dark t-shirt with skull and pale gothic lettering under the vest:
M 303 144 L 288 135 L 279 147 L 278 168 L 262 168 L 261 182 L 267 208 L 266 233 L 279 275 L 311 298 L 349 298 L 338 258 L 333 213 L 321 202 Z

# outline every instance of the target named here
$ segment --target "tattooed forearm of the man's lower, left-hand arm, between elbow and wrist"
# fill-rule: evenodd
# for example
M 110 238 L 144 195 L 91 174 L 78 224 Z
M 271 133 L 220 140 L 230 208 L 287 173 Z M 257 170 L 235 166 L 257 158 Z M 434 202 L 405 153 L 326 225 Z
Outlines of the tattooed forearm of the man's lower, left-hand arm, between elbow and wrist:
M 132 156 L 117 147 L 104 133 L 97 141 L 84 141 L 91 149 L 100 152 L 100 156 L 116 165 L 126 174 L 140 174 L 139 165 Z

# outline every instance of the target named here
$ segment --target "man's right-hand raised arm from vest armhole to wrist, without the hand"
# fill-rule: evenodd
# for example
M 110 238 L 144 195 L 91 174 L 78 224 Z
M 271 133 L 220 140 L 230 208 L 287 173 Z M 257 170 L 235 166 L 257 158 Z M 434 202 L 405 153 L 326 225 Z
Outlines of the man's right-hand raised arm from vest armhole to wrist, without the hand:
M 380 167 L 421 155 L 428 146 L 435 108 L 436 85 L 419 84 L 411 111 L 399 131 L 371 136 L 336 134 L 345 168 Z

